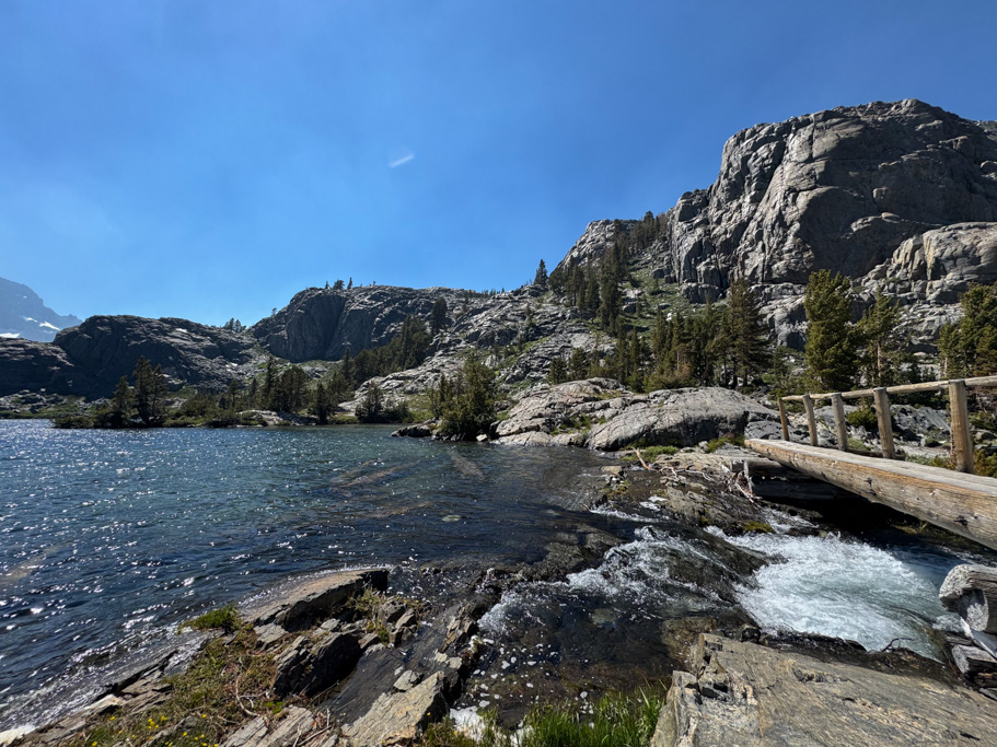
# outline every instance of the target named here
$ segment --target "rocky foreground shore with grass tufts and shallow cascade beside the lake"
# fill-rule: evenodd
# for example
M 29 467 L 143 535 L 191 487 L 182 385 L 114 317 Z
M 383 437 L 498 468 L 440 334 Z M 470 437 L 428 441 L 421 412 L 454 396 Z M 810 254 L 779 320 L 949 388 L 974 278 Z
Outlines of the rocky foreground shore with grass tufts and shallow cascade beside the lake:
M 670 688 L 654 745 L 997 738 L 987 719 L 997 704 L 947 663 L 765 633 L 741 606 L 738 590 L 774 559 L 731 538 L 848 532 L 860 499 L 787 500 L 821 490 L 733 446 L 622 456 L 581 480 L 590 518 L 537 562 L 474 576 L 419 568 L 290 580 L 241 604 L 237 619 L 201 620 L 204 630 L 175 637 L 154 661 L 118 672 L 82 710 L 0 744 L 418 744 L 451 709 L 494 710 L 514 727 L 534 703 L 567 699 L 584 712 L 598 693 L 638 681 Z M 629 528 L 615 516 L 630 517 Z M 686 603 L 634 622 L 590 609 L 581 587 L 573 603 L 558 596 L 566 579 L 627 562 L 619 553 L 634 517 L 647 520 L 648 536 L 673 538 L 661 583 Z M 865 521 L 904 522 L 886 510 Z M 528 596 L 529 614 L 518 609 L 497 633 L 500 610 Z M 572 617 L 573 604 L 584 615 Z

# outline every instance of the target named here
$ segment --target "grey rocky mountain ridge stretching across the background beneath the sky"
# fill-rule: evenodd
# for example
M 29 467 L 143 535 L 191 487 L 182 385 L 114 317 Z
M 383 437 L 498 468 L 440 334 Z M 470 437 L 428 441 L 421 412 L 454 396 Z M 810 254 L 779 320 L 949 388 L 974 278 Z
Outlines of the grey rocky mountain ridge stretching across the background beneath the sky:
M 734 279 L 745 278 L 762 301 L 773 337 L 799 348 L 807 278 L 830 269 L 858 284 L 858 308 L 877 291 L 896 297 L 921 349 L 930 349 L 938 328 L 958 316 L 959 295 L 974 283 L 997 280 L 997 125 L 916 100 L 755 125 L 727 141 L 709 187 L 685 192 L 665 212 L 649 215 L 590 222 L 552 278 L 600 262 L 618 240 L 639 237 L 631 269 L 673 292 L 661 301 L 635 285 L 626 291 L 625 308 L 669 311 L 716 301 Z M 135 359 L 125 357 L 149 350 L 165 359 L 156 362 L 175 378 L 222 388 L 225 376 L 252 371 L 252 361 L 258 365 L 268 353 L 293 362 L 327 361 L 347 348 L 356 353 L 384 345 L 406 316 L 428 320 L 438 297 L 448 303 L 449 328 L 421 366 L 389 376 L 389 388 L 425 390 L 469 348 L 520 342 L 519 358 L 501 374 L 506 384 L 542 378 L 553 357 L 575 347 L 612 349 L 612 341 L 587 325 L 583 312 L 557 293 L 544 296 L 543 288 L 528 284 L 482 296 L 444 288 L 369 285 L 305 289 L 247 331 L 229 330 L 234 337 L 228 348 L 212 340 L 208 330 L 217 328 L 193 322 L 100 317 L 60 332 L 53 345 L 61 353 L 39 349 L 38 366 L 57 365 L 53 361 L 61 355 L 86 382 L 78 389 L 93 394 L 103 387 L 106 394 L 116 381 L 112 373 L 128 373 L 126 366 L 134 365 Z M 118 325 L 117 338 L 104 334 L 115 318 L 128 319 Z M 235 351 L 234 358 L 225 349 Z M 0 345 L 0 361 L 5 354 Z M 20 373 L 0 375 L 0 395 L 37 387 L 31 354 L 22 346 Z M 200 358 L 187 360 L 190 355 Z

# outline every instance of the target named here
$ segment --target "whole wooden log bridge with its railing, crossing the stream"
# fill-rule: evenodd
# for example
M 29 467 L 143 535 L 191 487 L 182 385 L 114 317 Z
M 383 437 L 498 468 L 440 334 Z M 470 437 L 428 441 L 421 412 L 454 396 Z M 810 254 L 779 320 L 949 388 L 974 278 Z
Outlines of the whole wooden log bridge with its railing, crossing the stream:
M 997 387 L 997 376 L 925 382 L 856 392 L 804 394 L 779 399 L 781 441 L 747 440 L 745 446 L 819 480 L 883 503 L 997 550 L 997 479 L 973 472 L 973 436 L 966 390 Z M 897 460 L 893 446 L 890 398 L 893 395 L 948 392 L 955 470 Z M 882 444 L 881 454 L 848 448 L 846 399 L 871 397 Z M 818 445 L 813 402 L 830 399 L 834 412 L 836 448 Z M 810 444 L 789 440 L 786 402 L 802 402 Z

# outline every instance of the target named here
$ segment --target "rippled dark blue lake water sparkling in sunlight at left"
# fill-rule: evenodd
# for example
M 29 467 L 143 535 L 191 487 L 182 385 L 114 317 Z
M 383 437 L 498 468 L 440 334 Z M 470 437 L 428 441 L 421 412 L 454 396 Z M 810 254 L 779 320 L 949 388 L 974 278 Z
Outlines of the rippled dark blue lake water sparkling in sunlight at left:
M 291 574 L 534 560 L 600 463 L 391 431 L 0 421 L 0 728 L 67 670 Z

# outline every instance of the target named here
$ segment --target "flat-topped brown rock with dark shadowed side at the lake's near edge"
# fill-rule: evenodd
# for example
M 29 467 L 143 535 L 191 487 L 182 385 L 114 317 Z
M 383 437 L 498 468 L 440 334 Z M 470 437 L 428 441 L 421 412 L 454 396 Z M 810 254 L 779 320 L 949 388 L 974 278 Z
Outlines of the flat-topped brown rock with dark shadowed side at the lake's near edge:
M 277 625 L 285 630 L 301 630 L 321 622 L 364 586 L 387 587 L 387 571 L 339 571 L 302 579 L 267 593 L 251 603 L 243 617 L 256 627 Z

